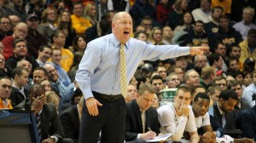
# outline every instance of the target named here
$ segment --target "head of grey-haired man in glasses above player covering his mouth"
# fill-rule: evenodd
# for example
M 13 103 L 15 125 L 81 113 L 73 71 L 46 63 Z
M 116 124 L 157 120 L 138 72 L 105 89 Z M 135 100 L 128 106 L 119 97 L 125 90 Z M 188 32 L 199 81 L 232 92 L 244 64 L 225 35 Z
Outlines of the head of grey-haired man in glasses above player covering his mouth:
M 176 72 L 172 72 L 166 77 L 166 86 L 168 89 L 177 88 L 179 84 L 180 84 L 180 79 Z

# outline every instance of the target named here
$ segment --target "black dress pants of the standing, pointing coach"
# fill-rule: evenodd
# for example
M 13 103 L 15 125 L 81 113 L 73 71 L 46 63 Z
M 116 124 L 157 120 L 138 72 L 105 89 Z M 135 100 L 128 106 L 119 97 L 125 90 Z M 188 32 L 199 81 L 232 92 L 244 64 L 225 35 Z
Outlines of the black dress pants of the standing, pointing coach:
M 86 105 L 83 106 L 79 143 L 96 143 L 101 134 L 101 143 L 123 143 L 125 139 L 125 99 L 108 101 L 101 94 L 93 93 L 96 100 L 102 103 L 98 106 L 99 114 L 90 116 Z

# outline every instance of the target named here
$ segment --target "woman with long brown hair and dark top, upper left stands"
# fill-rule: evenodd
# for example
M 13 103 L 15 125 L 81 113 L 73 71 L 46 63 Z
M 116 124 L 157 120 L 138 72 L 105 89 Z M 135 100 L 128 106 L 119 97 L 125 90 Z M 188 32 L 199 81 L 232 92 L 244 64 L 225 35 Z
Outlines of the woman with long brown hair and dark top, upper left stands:
M 73 38 L 76 37 L 77 33 L 72 26 L 71 16 L 69 11 L 63 10 L 57 20 L 57 29 L 59 31 L 64 32 L 66 41 L 65 41 L 65 49 L 68 49 L 72 46 Z

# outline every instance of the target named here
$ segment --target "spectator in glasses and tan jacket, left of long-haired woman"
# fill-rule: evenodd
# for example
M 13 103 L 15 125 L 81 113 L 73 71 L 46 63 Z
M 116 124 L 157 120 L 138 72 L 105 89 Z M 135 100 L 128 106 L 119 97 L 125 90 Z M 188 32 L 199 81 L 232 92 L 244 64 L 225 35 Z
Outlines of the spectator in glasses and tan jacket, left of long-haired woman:
M 38 31 L 44 35 L 47 39 L 47 44 L 50 45 L 51 43 L 51 35 L 53 31 L 56 30 L 55 22 L 56 22 L 57 16 L 55 13 L 55 9 L 53 8 L 47 8 L 44 9 L 42 13 L 42 21 L 41 24 L 38 26 Z

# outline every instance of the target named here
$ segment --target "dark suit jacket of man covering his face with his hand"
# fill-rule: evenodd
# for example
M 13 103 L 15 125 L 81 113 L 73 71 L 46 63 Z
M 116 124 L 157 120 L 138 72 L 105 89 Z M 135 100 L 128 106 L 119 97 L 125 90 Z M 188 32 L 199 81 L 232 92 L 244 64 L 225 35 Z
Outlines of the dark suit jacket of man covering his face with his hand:
M 42 140 L 47 139 L 48 134 L 56 136 L 59 139 L 58 142 L 61 142 L 62 138 L 64 138 L 61 122 L 53 104 L 45 103 L 43 106 L 41 113 L 41 131 Z

